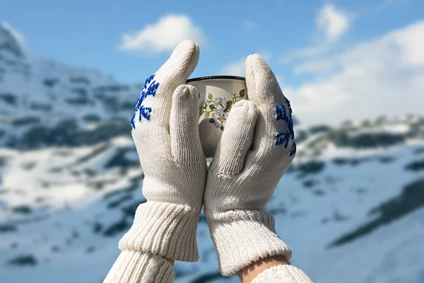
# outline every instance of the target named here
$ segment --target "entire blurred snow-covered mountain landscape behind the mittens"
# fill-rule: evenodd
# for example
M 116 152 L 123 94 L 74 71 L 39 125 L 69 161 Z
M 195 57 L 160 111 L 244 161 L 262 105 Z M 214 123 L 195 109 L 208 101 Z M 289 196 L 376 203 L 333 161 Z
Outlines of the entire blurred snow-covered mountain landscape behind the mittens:
M 33 59 L 0 27 L 0 282 L 105 277 L 144 201 L 140 88 Z M 424 282 L 424 117 L 300 126 L 268 206 L 293 264 L 314 282 Z M 176 281 L 238 282 L 220 277 L 204 216 L 198 241 Z

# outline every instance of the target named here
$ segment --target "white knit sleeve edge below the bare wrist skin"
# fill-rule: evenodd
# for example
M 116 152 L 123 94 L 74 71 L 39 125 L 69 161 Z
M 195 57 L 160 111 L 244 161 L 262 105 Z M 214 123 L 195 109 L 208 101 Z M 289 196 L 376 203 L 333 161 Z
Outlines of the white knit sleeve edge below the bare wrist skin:
M 277 265 L 261 272 L 250 283 L 312 283 L 305 272 L 293 265 Z

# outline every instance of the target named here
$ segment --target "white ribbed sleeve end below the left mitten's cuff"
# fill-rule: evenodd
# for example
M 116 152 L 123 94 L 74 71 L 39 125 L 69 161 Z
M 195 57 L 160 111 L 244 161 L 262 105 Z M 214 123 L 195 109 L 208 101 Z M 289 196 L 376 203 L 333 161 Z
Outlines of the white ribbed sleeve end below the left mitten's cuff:
M 172 283 L 175 272 L 169 260 L 159 255 L 124 250 L 114 262 L 104 283 Z

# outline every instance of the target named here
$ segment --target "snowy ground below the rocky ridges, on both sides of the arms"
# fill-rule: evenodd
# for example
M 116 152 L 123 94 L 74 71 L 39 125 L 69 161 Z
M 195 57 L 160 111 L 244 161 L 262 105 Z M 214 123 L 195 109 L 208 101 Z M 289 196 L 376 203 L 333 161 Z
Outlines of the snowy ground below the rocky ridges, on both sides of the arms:
M 101 281 L 136 204 L 143 202 L 138 165 L 105 168 L 118 149 L 130 147 L 131 140 L 121 138 L 72 150 L 0 151 L 7 158 L 0 186 L 0 282 Z M 406 170 L 424 160 L 420 146 L 398 146 L 360 161 L 344 156 L 345 163 L 333 154 L 295 162 L 269 203 L 278 233 L 294 250 L 293 263 L 315 282 L 423 282 L 423 208 L 329 248 L 378 219 L 369 214 L 373 208 L 424 179 L 423 170 Z M 311 162 L 321 166 L 305 169 Z M 177 282 L 237 282 L 219 279 L 203 219 L 198 241 L 201 259 L 177 262 Z M 201 279 L 208 276 L 216 279 Z

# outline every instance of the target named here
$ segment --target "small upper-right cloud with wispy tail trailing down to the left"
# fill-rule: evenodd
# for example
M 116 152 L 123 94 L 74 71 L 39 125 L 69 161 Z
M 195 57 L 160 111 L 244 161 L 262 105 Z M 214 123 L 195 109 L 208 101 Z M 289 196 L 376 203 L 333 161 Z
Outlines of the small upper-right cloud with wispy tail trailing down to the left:
M 351 25 L 351 18 L 347 13 L 337 10 L 332 4 L 325 4 L 319 10 L 317 18 L 317 44 L 310 47 L 293 50 L 281 57 L 282 64 L 288 63 L 293 59 L 314 57 L 324 54 L 334 45 Z

